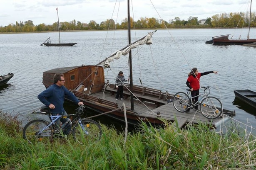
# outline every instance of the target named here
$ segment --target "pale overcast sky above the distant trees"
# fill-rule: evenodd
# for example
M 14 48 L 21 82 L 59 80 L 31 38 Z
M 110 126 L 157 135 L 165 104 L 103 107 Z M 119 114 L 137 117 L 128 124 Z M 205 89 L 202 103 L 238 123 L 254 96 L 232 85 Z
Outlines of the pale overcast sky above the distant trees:
M 170 19 L 191 17 L 206 19 L 215 14 L 249 11 L 250 0 L 131 0 L 131 16 L 135 21 L 140 17 Z M 116 5 L 116 6 L 115 6 Z M 127 0 L 1 0 L 0 26 L 15 24 L 16 21 L 32 20 L 34 25 L 72 20 L 98 24 L 106 19 L 121 23 L 127 17 Z M 118 12 L 119 10 L 119 12 Z M 252 4 L 256 12 L 256 3 Z

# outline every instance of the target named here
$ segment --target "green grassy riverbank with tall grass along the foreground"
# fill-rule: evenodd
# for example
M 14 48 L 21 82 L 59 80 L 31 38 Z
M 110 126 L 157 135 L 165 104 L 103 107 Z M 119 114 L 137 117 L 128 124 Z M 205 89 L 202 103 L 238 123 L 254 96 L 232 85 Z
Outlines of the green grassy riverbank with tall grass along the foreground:
M 186 130 L 167 124 L 154 129 L 119 134 L 103 127 L 97 143 L 80 145 L 55 138 L 52 142 L 27 143 L 17 117 L 0 111 L 0 168 L 6 170 L 145 170 L 145 169 L 255 169 L 256 138 L 242 129 L 225 134 L 207 126 Z

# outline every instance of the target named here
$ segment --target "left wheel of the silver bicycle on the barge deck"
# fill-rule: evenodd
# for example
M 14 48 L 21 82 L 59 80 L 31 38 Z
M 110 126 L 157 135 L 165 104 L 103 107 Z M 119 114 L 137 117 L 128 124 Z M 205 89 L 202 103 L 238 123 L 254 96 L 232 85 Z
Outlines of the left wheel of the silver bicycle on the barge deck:
M 178 92 L 173 97 L 174 108 L 179 112 L 185 112 L 190 106 L 189 96 L 184 92 Z

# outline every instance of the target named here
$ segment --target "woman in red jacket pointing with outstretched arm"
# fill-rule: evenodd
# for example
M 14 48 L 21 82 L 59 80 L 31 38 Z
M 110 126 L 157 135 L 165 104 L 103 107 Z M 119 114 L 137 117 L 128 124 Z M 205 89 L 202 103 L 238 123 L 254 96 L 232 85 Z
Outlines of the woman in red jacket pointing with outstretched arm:
M 191 72 L 189 73 L 189 78 L 186 80 L 186 85 L 189 87 L 191 91 L 192 101 L 196 103 L 199 98 L 199 89 L 200 89 L 200 77 L 203 75 L 207 75 L 210 73 L 217 74 L 217 71 L 206 71 L 204 73 L 199 73 L 197 68 L 192 68 Z M 197 97 L 194 97 L 197 96 Z M 193 98 L 194 97 L 194 98 Z M 194 109 L 198 109 L 198 105 L 194 107 Z M 189 110 L 188 110 L 189 111 Z

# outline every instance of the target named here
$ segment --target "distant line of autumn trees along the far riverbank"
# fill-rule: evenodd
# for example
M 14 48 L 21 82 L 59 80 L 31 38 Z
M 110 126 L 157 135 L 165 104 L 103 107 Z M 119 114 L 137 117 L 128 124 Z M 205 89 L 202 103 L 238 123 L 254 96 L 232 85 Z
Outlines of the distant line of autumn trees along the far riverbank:
M 256 27 L 255 12 L 251 15 L 251 27 Z M 121 24 L 115 23 L 113 19 L 107 19 L 100 24 L 91 20 L 89 23 L 82 23 L 75 19 L 71 22 L 60 22 L 61 31 L 74 31 L 74 30 L 107 30 L 107 29 L 127 29 L 127 18 L 122 20 Z M 204 24 L 200 24 L 198 17 L 189 17 L 188 20 L 181 20 L 179 17 L 170 19 L 168 22 L 156 18 L 141 17 L 139 20 L 134 21 L 131 17 L 132 29 L 161 29 L 161 28 L 234 28 L 234 27 L 248 27 L 249 15 L 244 12 L 238 13 L 222 13 L 216 14 L 211 18 L 207 18 Z M 25 22 L 20 21 L 15 24 L 1 26 L 0 32 L 47 32 L 57 31 L 57 22 L 52 25 L 38 24 L 34 25 L 33 21 L 28 20 Z

